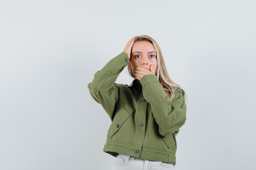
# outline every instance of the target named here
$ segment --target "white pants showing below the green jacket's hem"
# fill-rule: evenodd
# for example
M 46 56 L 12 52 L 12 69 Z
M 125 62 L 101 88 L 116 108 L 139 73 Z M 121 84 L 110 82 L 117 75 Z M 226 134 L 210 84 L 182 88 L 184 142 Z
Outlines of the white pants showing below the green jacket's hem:
M 171 163 L 138 159 L 120 153 L 112 170 L 175 170 Z

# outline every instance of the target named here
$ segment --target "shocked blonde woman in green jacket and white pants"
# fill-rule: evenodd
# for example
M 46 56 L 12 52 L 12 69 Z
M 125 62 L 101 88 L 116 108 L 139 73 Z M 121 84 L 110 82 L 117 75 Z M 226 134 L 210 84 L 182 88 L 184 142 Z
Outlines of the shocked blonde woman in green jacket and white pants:
M 115 83 L 126 66 L 132 83 Z M 186 121 L 185 93 L 169 77 L 153 38 L 129 40 L 88 88 L 112 121 L 103 151 L 116 157 L 113 170 L 175 170 L 176 135 Z

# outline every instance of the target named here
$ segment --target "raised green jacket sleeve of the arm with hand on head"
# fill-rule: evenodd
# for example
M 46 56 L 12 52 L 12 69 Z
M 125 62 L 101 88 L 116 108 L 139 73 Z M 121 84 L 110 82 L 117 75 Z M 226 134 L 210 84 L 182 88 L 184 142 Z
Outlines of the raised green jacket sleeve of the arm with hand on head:
M 115 104 L 119 98 L 119 86 L 115 81 L 128 62 L 128 54 L 125 52 L 120 53 L 112 58 L 101 70 L 97 71 L 92 82 L 87 85 L 90 95 L 96 102 L 101 104 L 111 121 L 114 119 Z

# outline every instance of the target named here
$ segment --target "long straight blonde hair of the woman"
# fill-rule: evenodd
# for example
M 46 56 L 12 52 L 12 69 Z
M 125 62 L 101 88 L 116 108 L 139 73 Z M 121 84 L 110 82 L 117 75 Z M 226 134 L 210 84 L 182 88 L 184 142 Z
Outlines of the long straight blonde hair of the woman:
M 160 84 L 162 85 L 162 87 L 164 88 L 164 91 L 167 95 L 167 99 L 171 100 L 174 97 L 174 91 L 176 90 L 177 87 L 181 88 L 182 91 L 184 92 L 184 95 L 186 97 L 186 93 L 183 90 L 183 88 L 181 86 L 179 86 L 177 83 L 175 83 L 168 75 L 167 73 L 167 69 L 166 66 L 164 64 L 164 58 L 162 56 L 162 52 L 161 49 L 159 47 L 159 45 L 157 44 L 157 42 L 151 38 L 148 35 L 140 35 L 137 36 L 135 38 L 135 42 L 137 41 L 148 41 L 151 44 L 153 44 L 155 51 L 157 53 L 157 79 L 159 80 Z M 128 67 L 127 67 L 128 68 Z M 128 72 L 129 74 L 135 78 L 135 76 L 133 75 L 132 71 L 128 68 Z M 187 99 L 184 98 L 186 104 L 187 104 Z

